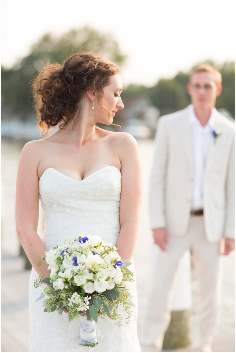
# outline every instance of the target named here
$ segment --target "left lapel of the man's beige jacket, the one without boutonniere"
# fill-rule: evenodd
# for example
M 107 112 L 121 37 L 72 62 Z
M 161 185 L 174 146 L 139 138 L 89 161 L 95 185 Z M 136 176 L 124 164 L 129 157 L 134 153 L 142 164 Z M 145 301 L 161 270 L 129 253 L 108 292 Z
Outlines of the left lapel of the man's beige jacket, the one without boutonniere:
M 189 109 L 186 108 L 185 113 L 178 120 L 179 125 L 179 135 L 181 137 L 181 143 L 184 150 L 184 155 L 186 157 L 191 176 L 193 176 L 193 155 L 192 155 L 192 145 L 191 145 L 191 131 L 189 124 Z

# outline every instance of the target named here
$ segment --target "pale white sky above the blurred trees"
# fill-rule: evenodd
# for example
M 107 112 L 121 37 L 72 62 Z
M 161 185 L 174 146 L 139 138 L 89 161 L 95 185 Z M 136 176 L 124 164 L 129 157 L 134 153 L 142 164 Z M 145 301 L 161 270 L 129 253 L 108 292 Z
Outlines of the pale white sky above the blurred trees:
M 127 55 L 124 86 L 151 86 L 207 59 L 235 60 L 233 0 L 1 1 L 1 64 L 10 68 L 43 34 L 89 25 Z

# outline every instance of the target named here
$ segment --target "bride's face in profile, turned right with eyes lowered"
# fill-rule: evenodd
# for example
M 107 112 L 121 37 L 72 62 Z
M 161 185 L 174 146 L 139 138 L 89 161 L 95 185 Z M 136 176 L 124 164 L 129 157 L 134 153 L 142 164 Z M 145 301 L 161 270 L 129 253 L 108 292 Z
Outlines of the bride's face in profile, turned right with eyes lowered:
M 99 114 L 99 121 L 102 124 L 110 125 L 113 122 L 113 118 L 118 109 L 123 109 L 124 104 L 120 98 L 120 93 L 122 91 L 122 79 L 119 74 L 116 74 L 111 77 L 110 84 L 104 88 L 104 95 L 103 95 L 103 102 L 100 102 L 100 114 Z M 94 100 L 94 106 L 95 106 Z M 107 111 L 102 107 L 103 105 L 106 106 L 107 110 L 110 113 L 110 117 L 108 117 Z

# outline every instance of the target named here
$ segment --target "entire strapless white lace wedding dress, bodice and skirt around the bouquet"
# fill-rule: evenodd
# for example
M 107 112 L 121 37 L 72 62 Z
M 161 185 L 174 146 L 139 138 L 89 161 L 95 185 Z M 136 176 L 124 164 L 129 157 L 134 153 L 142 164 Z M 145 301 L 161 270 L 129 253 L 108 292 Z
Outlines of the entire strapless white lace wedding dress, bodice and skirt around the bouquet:
M 121 173 L 113 166 L 97 170 L 87 178 L 76 181 L 48 168 L 39 181 L 39 191 L 45 231 L 42 235 L 46 250 L 60 245 L 69 235 L 100 235 L 102 240 L 116 244 L 120 231 L 119 205 Z M 129 267 L 134 271 L 134 265 Z M 118 327 L 107 318 L 98 319 L 96 332 L 98 345 L 94 348 L 79 346 L 80 320 L 71 323 L 67 314 L 59 316 L 57 311 L 43 312 L 41 288 L 34 288 L 38 277 L 32 269 L 29 283 L 29 352 L 141 352 L 137 337 L 137 292 L 136 283 L 127 282 L 132 295 L 133 315 L 130 324 Z

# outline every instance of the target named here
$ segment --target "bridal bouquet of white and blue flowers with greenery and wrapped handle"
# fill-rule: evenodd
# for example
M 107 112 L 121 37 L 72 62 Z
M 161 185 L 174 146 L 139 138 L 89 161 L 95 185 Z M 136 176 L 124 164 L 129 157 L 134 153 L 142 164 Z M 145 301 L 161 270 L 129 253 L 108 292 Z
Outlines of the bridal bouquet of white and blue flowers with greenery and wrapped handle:
M 100 237 L 86 235 L 65 239 L 61 246 L 46 251 L 46 258 L 42 258 L 49 264 L 51 273 L 35 280 L 35 288 L 46 283 L 37 300 L 45 298 L 46 312 L 57 310 L 61 315 L 67 309 L 69 322 L 81 318 L 80 345 L 98 344 L 95 330 L 98 317 L 108 316 L 122 326 L 119 304 L 126 313 L 126 323 L 131 320 L 134 305 L 125 282 L 132 282 L 134 274 L 125 268 L 131 263 L 124 262 L 116 250 L 116 246 L 104 243 Z

